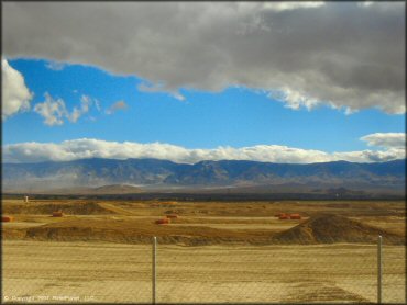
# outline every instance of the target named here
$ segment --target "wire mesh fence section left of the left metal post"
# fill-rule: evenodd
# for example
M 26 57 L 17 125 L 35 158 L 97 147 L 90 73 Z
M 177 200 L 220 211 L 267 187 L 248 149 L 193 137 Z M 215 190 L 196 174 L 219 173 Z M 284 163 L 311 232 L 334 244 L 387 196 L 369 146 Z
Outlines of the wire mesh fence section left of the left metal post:
M 12 241 L 2 245 L 2 301 L 151 303 L 151 246 Z

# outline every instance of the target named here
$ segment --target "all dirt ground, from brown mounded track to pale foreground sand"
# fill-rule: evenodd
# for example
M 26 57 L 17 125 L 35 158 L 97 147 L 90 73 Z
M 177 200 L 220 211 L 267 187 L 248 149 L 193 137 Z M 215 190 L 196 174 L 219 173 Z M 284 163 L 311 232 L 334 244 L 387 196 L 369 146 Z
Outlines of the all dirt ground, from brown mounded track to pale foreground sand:
M 151 302 L 156 236 L 158 302 L 375 302 L 382 235 L 384 300 L 405 302 L 405 202 L 3 200 L 2 213 L 8 301 Z

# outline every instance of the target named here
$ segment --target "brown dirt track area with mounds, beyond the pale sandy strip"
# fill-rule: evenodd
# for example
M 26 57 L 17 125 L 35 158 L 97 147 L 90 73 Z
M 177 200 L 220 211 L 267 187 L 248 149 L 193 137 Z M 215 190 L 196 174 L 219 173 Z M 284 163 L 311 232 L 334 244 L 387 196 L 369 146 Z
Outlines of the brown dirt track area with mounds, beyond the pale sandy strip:
M 100 240 L 145 244 L 318 244 L 376 242 L 404 245 L 404 202 L 117 202 L 3 201 L 4 239 Z M 52 217 L 62 211 L 64 217 Z M 301 219 L 275 217 L 300 213 Z M 155 221 L 176 214 L 170 224 Z

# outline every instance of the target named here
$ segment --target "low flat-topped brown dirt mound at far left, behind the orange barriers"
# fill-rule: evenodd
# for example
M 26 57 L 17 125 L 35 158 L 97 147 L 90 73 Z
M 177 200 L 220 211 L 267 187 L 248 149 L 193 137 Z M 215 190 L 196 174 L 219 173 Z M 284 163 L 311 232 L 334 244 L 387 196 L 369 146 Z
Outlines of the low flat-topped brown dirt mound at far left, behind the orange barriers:
M 4 205 L 3 213 L 8 214 L 52 214 L 55 211 L 62 211 L 68 215 L 102 215 L 116 214 L 113 211 L 105 208 L 95 202 L 86 203 L 45 203 L 45 204 L 19 204 Z

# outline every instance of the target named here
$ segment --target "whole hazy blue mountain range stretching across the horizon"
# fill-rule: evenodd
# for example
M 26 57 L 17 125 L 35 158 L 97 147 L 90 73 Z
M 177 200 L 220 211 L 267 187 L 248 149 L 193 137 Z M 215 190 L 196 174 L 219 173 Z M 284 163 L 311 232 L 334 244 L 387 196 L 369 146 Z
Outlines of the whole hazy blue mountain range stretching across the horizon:
M 52 190 L 131 185 L 123 192 L 145 188 L 241 188 L 315 189 L 328 192 L 349 190 L 404 190 L 406 160 L 376 163 L 346 161 L 308 165 L 221 160 L 195 165 L 158 159 L 81 159 L 66 162 L 3 163 L 3 191 Z M 119 187 L 101 192 L 121 192 Z M 134 189 L 133 189 L 134 188 Z M 342 189 L 341 189 L 342 188 Z M 99 192 L 94 190 L 94 192 Z

